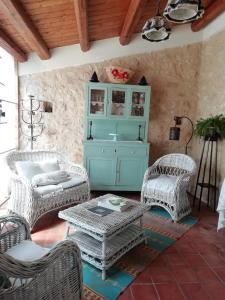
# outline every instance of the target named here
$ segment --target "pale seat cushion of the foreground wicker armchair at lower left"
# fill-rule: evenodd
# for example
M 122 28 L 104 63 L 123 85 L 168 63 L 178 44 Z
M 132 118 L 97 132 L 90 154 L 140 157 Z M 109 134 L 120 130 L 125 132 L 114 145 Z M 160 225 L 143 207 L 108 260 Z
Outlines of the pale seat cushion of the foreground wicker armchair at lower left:
M 40 259 L 49 252 L 49 249 L 43 248 L 30 240 L 22 241 L 20 244 L 8 249 L 8 255 L 15 259 L 30 262 Z

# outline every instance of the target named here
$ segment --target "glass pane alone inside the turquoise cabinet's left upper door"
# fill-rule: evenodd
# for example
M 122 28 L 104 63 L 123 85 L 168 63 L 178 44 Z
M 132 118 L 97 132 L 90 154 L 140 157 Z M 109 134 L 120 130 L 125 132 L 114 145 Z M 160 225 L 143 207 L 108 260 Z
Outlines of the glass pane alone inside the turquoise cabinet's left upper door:
M 91 114 L 104 114 L 104 98 L 105 91 L 104 90 L 91 90 L 91 105 L 90 105 L 90 113 Z

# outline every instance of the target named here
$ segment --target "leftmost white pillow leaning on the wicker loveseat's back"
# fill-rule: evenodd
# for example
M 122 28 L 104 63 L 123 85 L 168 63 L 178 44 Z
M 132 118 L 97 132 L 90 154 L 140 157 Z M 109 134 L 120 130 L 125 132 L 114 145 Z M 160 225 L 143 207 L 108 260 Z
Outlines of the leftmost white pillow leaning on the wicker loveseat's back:
M 34 175 L 44 172 L 39 163 L 32 161 L 17 161 L 15 165 L 17 173 L 28 180 L 31 180 Z

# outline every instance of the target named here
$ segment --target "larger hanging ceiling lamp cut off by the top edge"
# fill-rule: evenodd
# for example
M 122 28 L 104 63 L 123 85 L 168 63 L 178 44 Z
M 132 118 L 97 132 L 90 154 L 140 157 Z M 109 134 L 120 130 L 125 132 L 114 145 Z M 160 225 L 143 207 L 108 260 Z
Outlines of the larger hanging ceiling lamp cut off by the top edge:
M 202 17 L 201 0 L 168 0 L 163 15 L 170 22 L 186 23 Z

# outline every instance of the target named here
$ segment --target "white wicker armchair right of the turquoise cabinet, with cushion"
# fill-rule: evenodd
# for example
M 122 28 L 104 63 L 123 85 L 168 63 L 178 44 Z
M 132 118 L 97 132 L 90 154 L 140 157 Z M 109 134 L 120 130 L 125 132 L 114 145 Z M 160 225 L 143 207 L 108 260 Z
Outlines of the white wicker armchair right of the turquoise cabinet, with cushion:
M 159 158 L 145 172 L 141 201 L 161 206 L 179 221 L 191 212 L 187 188 L 195 174 L 194 160 L 184 154 L 168 154 Z

